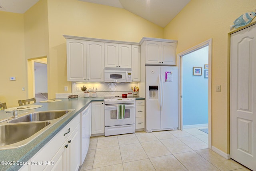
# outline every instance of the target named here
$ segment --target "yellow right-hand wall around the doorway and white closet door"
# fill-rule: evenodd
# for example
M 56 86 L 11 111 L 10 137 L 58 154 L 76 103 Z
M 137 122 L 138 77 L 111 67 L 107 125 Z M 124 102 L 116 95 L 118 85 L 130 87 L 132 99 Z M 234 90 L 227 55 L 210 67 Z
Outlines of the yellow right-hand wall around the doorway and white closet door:
M 212 38 L 212 145 L 225 153 L 230 148 L 228 33 L 236 18 L 255 8 L 255 0 L 191 0 L 164 28 L 164 38 L 178 40 L 177 54 Z

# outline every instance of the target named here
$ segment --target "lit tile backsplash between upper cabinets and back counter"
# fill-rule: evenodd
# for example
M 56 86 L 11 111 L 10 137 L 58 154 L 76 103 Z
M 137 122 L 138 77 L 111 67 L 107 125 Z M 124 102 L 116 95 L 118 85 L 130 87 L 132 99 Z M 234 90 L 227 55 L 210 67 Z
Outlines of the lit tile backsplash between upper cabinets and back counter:
M 72 83 L 72 93 L 78 97 L 83 97 L 84 92 L 80 87 L 86 86 L 89 91 L 97 92 L 97 97 L 104 96 L 122 96 L 124 93 L 132 93 L 132 87 L 137 86 L 137 83 Z

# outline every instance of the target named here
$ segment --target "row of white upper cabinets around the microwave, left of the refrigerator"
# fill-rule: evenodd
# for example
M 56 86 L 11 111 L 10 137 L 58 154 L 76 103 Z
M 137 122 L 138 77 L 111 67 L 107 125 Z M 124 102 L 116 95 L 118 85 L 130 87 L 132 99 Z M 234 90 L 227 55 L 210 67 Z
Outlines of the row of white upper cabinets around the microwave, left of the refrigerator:
M 63 36 L 67 41 L 68 81 L 104 82 L 105 67 L 132 68 L 134 81 L 140 81 L 138 43 Z M 132 49 L 132 46 L 136 48 Z

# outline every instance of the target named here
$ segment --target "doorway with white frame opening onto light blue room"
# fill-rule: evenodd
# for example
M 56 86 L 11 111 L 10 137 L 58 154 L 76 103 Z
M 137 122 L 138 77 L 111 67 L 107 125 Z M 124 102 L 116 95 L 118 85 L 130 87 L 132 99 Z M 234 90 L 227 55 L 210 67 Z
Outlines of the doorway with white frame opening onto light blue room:
M 211 149 L 211 44 L 209 39 L 178 54 L 179 129 L 208 127 Z M 205 59 L 200 56 L 206 56 Z M 204 130 L 205 131 L 205 130 Z

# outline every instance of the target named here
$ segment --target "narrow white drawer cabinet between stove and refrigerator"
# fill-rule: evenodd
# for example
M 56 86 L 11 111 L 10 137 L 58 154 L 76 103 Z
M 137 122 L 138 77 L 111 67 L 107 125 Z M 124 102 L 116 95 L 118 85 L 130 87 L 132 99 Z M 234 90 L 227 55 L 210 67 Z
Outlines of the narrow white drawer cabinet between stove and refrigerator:
M 144 100 L 135 101 L 135 129 L 145 128 L 145 102 Z

